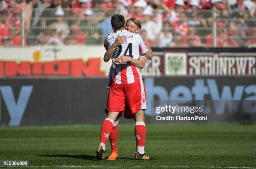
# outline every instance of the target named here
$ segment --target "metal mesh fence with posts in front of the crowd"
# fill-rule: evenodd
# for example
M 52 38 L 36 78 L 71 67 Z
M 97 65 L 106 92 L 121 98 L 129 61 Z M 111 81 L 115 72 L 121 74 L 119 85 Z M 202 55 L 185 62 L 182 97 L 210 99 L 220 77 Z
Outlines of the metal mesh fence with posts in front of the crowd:
M 63 11 L 63 12 L 60 12 Z M 111 16 L 120 10 L 47 9 L 0 11 L 6 23 L 1 46 L 101 45 L 111 29 Z M 133 16 L 131 12 L 125 19 Z M 154 46 L 256 46 L 256 18 L 227 10 L 164 11 L 137 14 L 144 41 Z M 9 34 L 6 33 L 9 31 Z M 3 31 L 2 31 L 3 34 Z

